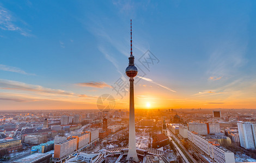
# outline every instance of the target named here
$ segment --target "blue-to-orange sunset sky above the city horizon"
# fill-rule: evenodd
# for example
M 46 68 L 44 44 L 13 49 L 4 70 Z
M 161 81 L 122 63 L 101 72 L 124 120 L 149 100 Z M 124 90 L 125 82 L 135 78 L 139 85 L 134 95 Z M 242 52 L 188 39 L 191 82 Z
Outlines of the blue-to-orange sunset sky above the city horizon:
M 106 93 L 115 109 L 129 108 L 121 82 L 130 19 L 137 109 L 256 108 L 255 9 L 255 1 L 1 1 L 0 110 L 96 109 Z

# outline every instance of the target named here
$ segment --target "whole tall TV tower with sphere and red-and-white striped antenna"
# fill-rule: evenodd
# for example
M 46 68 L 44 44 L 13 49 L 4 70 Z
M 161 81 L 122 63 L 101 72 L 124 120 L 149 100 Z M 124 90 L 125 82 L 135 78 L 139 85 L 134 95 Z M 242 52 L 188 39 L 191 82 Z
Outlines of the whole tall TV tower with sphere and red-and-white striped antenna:
M 129 66 L 125 70 L 126 75 L 130 78 L 130 120 L 129 120 L 129 151 L 126 160 L 132 158 L 133 161 L 138 162 L 138 155 L 136 151 L 135 141 L 135 112 L 134 112 L 134 89 L 133 82 L 138 70 L 134 65 L 134 56 L 132 55 L 132 20 L 131 20 L 131 55 L 129 57 Z

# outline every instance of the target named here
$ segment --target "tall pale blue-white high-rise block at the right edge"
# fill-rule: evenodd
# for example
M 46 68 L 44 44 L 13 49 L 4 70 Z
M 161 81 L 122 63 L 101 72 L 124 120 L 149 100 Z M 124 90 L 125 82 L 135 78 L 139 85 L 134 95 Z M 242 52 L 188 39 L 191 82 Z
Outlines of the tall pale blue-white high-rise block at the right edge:
M 245 149 L 256 148 L 256 124 L 251 122 L 238 122 L 240 146 Z

